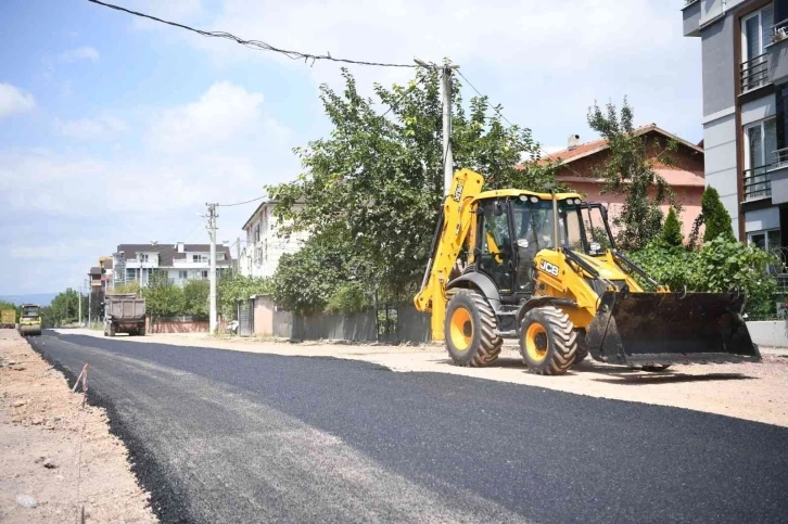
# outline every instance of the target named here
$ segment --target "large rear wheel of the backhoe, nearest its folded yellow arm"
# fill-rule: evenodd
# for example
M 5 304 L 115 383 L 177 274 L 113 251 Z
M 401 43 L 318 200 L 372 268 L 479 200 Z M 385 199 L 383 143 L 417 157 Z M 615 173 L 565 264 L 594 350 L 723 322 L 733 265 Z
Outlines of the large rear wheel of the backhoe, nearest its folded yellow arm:
M 459 290 L 446 307 L 446 349 L 457 366 L 483 368 L 500 354 L 504 340 L 495 334 L 495 311 L 474 290 Z

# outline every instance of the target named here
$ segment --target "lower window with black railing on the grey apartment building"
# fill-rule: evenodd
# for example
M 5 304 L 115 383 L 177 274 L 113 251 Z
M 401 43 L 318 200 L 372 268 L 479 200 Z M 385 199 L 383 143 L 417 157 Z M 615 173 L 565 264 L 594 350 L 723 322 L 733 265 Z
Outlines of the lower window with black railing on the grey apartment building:
M 745 127 L 745 199 L 772 194 L 766 171 L 777 161 L 776 122 L 770 118 Z

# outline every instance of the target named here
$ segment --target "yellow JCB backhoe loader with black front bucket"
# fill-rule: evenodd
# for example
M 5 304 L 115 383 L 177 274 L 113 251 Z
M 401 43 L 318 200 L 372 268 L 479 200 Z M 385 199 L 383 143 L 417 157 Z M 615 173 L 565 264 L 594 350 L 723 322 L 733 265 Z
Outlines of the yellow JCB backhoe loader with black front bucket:
M 537 374 L 564 373 L 589 354 L 649 371 L 760 360 L 743 295 L 660 285 L 615 250 L 603 205 L 576 193 L 482 192 L 483 182 L 455 174 L 414 299 L 455 363 L 492 363 L 505 337 L 519 340 Z

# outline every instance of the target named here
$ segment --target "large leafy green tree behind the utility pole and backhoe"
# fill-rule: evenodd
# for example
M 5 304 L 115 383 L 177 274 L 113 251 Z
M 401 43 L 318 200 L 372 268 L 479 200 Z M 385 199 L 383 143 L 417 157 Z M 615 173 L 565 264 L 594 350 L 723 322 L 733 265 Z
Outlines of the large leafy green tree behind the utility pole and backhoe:
M 407 87 L 376 85 L 376 98 L 385 108 L 381 111 L 359 94 L 355 78 L 343 71 L 343 92 L 320 88 L 333 125 L 330 136 L 294 150 L 304 168 L 295 181 L 267 188 L 278 202 L 275 216 L 292 220 L 282 228 L 283 234 L 308 231 L 323 239 L 319 242 L 332 239 L 323 247 L 353 254 L 343 278 L 357 279 L 367 294 L 377 287 L 392 299 L 409 298 L 427 266 L 443 200 L 439 75 L 419 68 Z M 530 130 L 503 124 L 496 113 L 490 114 L 484 98 L 471 99 L 466 110 L 457 80 L 452 104 L 455 168 L 483 174 L 488 189 L 544 191 L 555 182 L 554 166 L 537 162 L 539 148 Z M 533 162 L 522 164 L 523 158 Z M 316 266 L 309 251 L 294 255 L 300 256 L 305 260 L 287 259 L 276 286 L 278 296 L 293 296 L 289 293 L 295 289 L 289 286 L 295 286 L 298 278 L 316 278 L 296 277 L 294 271 L 327 270 Z M 307 291 L 313 294 L 306 303 L 294 299 L 291 306 L 325 307 L 335 289 L 315 282 Z

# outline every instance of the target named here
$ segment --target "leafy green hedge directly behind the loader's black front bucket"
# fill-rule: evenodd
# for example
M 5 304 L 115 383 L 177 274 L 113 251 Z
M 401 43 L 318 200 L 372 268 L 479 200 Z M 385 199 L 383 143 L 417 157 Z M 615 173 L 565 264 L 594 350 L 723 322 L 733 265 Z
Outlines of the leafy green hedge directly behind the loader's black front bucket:
M 673 290 L 722 293 L 738 289 L 747 296 L 750 315 L 773 315 L 777 284 L 768 267 L 779 264 L 771 254 L 720 235 L 698 251 L 652 242 L 631 253 L 654 280 Z

